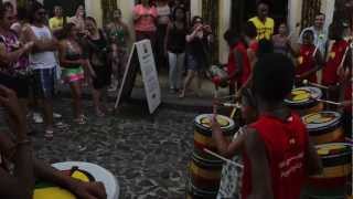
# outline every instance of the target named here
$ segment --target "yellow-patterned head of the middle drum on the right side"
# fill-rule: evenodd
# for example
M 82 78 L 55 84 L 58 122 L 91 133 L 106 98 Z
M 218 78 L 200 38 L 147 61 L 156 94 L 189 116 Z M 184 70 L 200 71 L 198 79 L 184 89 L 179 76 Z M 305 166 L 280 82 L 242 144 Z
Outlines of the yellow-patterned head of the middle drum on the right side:
M 302 117 L 309 132 L 320 132 L 341 123 L 341 114 L 336 112 L 319 112 Z

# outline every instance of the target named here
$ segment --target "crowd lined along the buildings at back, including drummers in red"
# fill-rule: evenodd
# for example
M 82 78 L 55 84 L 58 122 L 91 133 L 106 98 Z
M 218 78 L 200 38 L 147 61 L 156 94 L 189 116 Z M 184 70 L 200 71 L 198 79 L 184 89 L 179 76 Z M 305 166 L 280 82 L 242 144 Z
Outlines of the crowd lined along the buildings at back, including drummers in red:
M 195 93 L 201 95 L 201 77 L 204 74 L 212 77 L 207 72 L 214 41 L 212 24 L 197 15 L 191 19 L 189 7 L 181 0 L 141 0 L 132 10 L 136 41 L 151 41 L 157 67 L 169 69 L 170 92 L 179 97 L 189 94 L 194 78 Z M 103 101 L 107 91 L 115 91 L 121 83 L 132 42 L 132 33 L 119 9 L 111 13 L 111 22 L 103 29 L 85 14 L 83 6 L 77 7 L 73 17 L 63 13 L 62 7 L 55 6 L 50 18 L 41 3 L 29 1 L 25 8 L 18 9 L 10 2 L 3 3 L 0 14 L 0 84 L 15 91 L 24 113 L 31 109 L 35 121 L 44 122 L 47 138 L 53 136 L 54 117 L 60 117 L 53 113 L 52 105 L 57 82 L 71 88 L 77 124 L 86 121 L 81 97 L 83 85 L 92 87 L 96 115 L 105 116 L 109 108 Z M 289 32 L 285 22 L 275 23 L 269 13 L 270 6 L 258 1 L 256 17 L 242 30 L 229 29 L 224 33 L 229 45 L 227 75 L 213 76 L 216 85 L 226 82 L 231 94 L 239 94 L 252 83 L 256 61 L 271 52 L 286 54 L 295 61 L 298 83 L 320 80 L 319 83 L 333 87 L 342 80 L 339 75 L 351 60 L 344 55 L 351 52 L 350 23 L 333 23 L 329 31 L 325 15 L 318 13 L 313 25 L 303 29 L 298 36 L 296 30 Z M 339 100 L 339 90 L 332 91 L 332 100 Z M 43 114 L 36 113 L 40 107 Z

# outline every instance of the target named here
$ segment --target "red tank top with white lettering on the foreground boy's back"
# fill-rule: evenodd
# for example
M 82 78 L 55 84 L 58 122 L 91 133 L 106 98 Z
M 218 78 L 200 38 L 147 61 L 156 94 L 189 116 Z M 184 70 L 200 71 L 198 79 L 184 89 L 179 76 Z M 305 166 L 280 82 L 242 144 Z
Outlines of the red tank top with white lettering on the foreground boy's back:
M 270 168 L 275 199 L 298 199 L 307 177 L 304 149 L 308 134 L 299 115 L 292 114 L 287 122 L 263 115 L 250 125 L 265 143 Z M 252 193 L 252 163 L 244 153 L 242 198 Z

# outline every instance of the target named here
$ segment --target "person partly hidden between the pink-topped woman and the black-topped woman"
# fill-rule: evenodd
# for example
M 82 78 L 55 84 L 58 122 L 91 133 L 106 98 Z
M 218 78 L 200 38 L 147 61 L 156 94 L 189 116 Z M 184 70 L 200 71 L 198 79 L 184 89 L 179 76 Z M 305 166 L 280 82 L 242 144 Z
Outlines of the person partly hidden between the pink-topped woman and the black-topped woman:
M 164 39 L 170 22 L 171 10 L 168 0 L 157 1 L 157 65 L 159 69 L 167 66 L 164 53 Z

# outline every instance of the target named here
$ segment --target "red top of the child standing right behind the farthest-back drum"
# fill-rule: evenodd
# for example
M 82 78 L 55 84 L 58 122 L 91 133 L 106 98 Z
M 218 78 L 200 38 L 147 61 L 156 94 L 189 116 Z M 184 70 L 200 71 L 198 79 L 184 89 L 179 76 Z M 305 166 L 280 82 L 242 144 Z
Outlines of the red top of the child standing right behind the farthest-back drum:
M 315 67 L 315 61 L 313 55 L 313 52 L 315 51 L 314 45 L 301 45 L 299 57 L 298 57 L 298 66 L 296 69 L 297 75 L 302 75 L 303 73 L 312 70 Z M 317 74 L 312 74 L 308 77 L 308 81 L 317 83 Z

